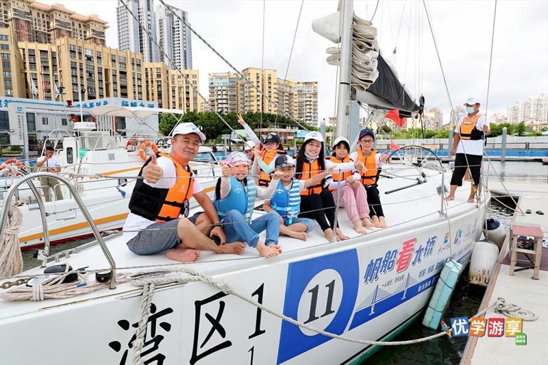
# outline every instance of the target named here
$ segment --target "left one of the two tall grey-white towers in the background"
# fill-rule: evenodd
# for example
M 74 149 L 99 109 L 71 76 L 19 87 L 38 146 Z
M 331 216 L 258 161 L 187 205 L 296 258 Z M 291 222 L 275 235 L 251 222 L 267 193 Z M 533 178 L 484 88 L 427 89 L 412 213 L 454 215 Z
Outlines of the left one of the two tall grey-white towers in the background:
M 129 13 L 123 4 L 116 8 L 116 20 L 118 22 L 118 48 L 121 51 L 142 53 L 143 61 L 159 62 L 160 57 L 156 34 L 156 16 L 153 0 L 121 0 L 138 18 L 138 21 Z M 151 34 L 140 27 L 142 25 Z

